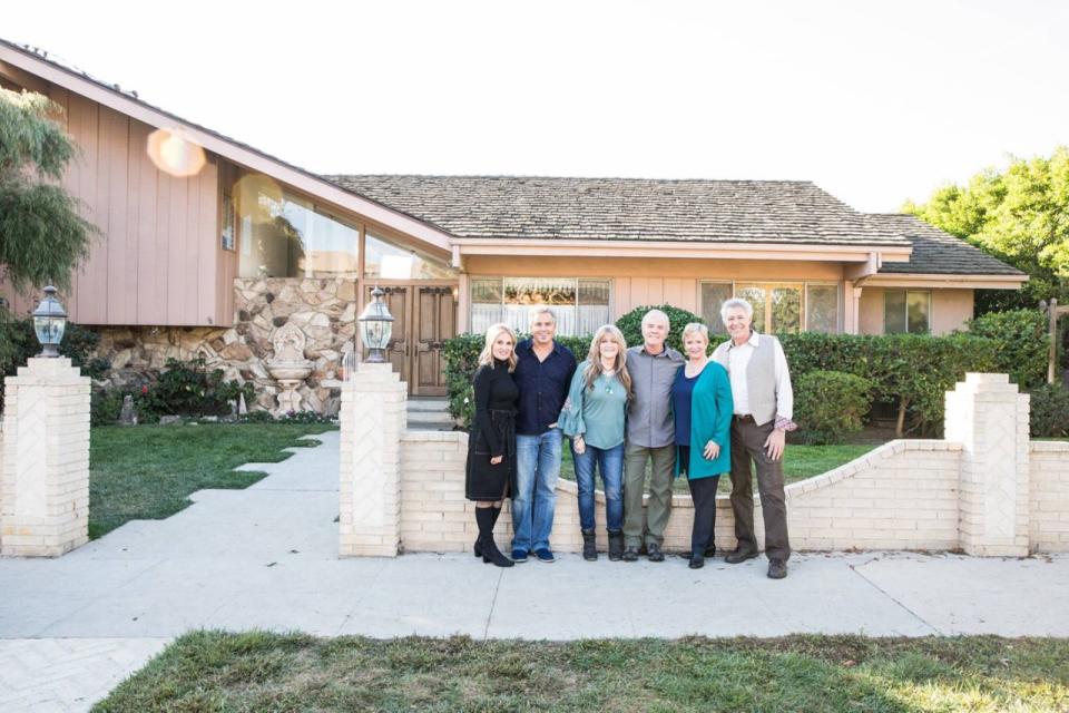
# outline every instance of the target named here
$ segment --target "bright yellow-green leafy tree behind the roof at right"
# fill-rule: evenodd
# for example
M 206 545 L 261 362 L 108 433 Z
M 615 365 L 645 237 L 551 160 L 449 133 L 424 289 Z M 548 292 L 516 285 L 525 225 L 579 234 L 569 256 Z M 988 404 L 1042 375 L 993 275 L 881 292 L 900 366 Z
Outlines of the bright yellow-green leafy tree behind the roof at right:
M 1013 158 L 1004 172 L 988 168 L 903 211 L 1028 273 L 1020 292 L 979 292 L 978 314 L 1069 300 L 1069 147 L 1050 158 Z

